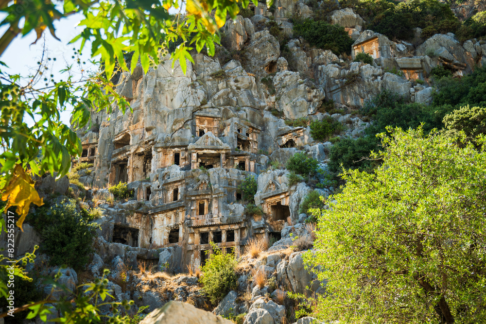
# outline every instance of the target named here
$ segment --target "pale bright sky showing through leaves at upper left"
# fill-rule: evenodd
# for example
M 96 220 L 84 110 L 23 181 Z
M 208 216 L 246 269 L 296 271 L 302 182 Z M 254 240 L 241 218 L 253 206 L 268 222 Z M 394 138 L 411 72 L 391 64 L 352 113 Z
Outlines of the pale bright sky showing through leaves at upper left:
M 3 17 L 0 17 L 3 18 Z M 55 61 L 50 61 L 52 63 L 52 72 L 49 74 L 54 75 L 54 80 L 66 80 L 65 74 L 60 74 L 58 71 L 76 62 L 72 59 L 74 51 L 73 48 L 79 48 L 78 46 L 73 46 L 73 44 L 68 45 L 69 41 L 79 34 L 82 28 L 76 28 L 78 22 L 83 19 L 82 15 L 73 15 L 68 18 L 61 19 L 54 23 L 56 29 L 56 36 L 61 39 L 61 41 L 56 40 L 52 37 L 51 33 L 46 29 L 44 32 L 46 48 L 48 50 L 49 57 L 55 57 Z M 0 35 L 2 35 L 6 30 L 6 26 L 0 28 Z M 20 74 L 23 76 L 28 76 L 34 73 L 37 68 L 37 62 L 42 55 L 44 40 L 41 38 L 36 44 L 31 45 L 35 41 L 35 32 L 25 35 L 25 37 L 17 36 L 9 47 L 0 57 L 0 61 L 4 62 L 9 68 L 5 69 L 11 74 Z M 79 43 L 78 43 L 79 44 Z M 82 55 L 87 64 L 87 69 L 96 70 L 96 67 L 88 63 L 88 59 L 91 54 L 91 49 L 89 44 L 85 46 L 83 50 L 85 53 Z M 79 70 L 79 69 L 78 69 Z M 39 82 L 38 87 L 42 87 L 43 82 Z M 62 121 L 69 125 L 70 111 L 66 111 L 61 115 Z

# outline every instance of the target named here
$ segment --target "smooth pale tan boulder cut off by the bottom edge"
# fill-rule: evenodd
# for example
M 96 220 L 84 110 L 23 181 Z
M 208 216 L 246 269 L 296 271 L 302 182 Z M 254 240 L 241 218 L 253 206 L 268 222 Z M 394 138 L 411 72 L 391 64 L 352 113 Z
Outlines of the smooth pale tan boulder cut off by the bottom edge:
M 153 310 L 140 324 L 232 324 L 231 321 L 191 304 L 170 301 L 164 307 Z M 273 324 L 273 323 L 269 323 Z

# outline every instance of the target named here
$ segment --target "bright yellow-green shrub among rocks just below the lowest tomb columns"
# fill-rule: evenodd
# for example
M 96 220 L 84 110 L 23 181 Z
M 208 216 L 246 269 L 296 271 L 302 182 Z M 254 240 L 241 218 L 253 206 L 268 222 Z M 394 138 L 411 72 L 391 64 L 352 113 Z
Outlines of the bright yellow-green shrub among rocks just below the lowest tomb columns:
M 211 303 L 216 304 L 231 290 L 238 288 L 238 276 L 235 271 L 237 261 L 232 253 L 222 254 L 221 250 L 211 244 L 213 253 L 203 266 L 204 275 L 199 281 Z

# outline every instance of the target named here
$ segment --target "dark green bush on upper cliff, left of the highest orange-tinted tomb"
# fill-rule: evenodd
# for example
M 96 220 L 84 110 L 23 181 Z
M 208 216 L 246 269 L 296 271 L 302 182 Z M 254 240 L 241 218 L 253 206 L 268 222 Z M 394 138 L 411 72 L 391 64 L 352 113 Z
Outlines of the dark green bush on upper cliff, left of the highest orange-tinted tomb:
M 349 54 L 353 44 L 344 27 L 310 18 L 294 21 L 294 36 L 302 36 L 311 46 L 331 50 L 336 55 Z

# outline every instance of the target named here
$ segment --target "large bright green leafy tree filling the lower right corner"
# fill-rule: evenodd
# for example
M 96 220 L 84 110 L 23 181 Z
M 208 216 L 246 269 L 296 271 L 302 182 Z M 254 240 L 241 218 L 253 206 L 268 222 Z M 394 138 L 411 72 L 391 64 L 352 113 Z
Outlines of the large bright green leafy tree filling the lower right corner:
M 326 253 L 304 259 L 328 284 L 314 316 L 483 322 L 485 151 L 421 129 L 395 130 L 382 145 L 372 156 L 382 166 L 373 174 L 346 171 L 343 192 L 316 214 L 315 249 Z

